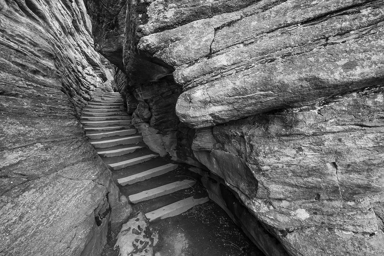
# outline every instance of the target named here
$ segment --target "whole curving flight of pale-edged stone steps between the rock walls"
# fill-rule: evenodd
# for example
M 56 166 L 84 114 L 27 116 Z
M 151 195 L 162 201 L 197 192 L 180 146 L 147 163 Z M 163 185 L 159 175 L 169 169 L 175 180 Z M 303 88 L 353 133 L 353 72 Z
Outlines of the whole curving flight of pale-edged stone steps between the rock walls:
M 179 165 L 148 149 L 132 127 L 119 93 L 104 94 L 84 109 L 81 123 L 120 190 L 152 222 L 179 215 L 209 199 Z

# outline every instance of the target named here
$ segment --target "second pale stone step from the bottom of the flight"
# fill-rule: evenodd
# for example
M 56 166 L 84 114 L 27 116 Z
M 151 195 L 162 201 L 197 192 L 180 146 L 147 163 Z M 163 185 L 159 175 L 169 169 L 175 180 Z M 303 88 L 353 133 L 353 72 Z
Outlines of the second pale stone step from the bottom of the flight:
M 134 195 L 130 195 L 128 198 L 129 198 L 129 201 L 131 201 L 131 203 L 139 203 L 141 201 L 146 201 L 156 197 L 161 197 L 163 195 L 168 195 L 170 193 L 173 193 L 182 189 L 191 188 L 193 185 L 195 185 L 195 183 L 196 183 L 195 180 L 182 180 L 182 181 L 172 182 L 161 187 L 152 188 L 150 190 L 146 190 Z

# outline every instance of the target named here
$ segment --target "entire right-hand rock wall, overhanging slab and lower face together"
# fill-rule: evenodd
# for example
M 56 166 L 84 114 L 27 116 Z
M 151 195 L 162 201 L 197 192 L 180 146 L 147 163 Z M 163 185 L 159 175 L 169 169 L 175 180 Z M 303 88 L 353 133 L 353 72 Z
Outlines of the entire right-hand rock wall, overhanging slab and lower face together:
M 379 256 L 383 18 L 382 1 L 127 1 L 115 79 L 158 152 L 222 178 L 290 255 Z

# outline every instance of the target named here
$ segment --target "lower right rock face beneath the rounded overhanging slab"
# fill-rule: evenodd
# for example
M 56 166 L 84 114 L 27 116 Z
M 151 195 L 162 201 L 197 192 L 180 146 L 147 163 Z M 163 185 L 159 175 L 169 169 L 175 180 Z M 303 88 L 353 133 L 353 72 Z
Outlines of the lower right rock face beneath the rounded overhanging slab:
M 359 241 L 356 255 L 381 255 L 382 220 L 374 209 L 384 199 L 382 95 L 349 94 L 215 126 L 214 147 L 203 151 L 196 140 L 194 153 L 292 254 L 322 255 L 323 243 L 329 253 L 351 253 Z

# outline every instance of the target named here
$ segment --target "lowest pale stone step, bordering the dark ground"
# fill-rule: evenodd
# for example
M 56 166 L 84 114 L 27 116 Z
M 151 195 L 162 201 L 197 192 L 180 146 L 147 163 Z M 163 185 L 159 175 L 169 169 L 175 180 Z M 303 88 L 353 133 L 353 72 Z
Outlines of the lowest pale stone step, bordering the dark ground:
M 166 205 L 157 210 L 150 211 L 149 213 L 146 213 L 145 216 L 147 217 L 149 222 L 152 222 L 155 220 L 162 220 L 165 218 L 179 215 L 180 213 L 183 213 L 189 210 L 193 206 L 201 205 L 203 203 L 206 203 L 207 201 L 209 201 L 208 197 L 203 197 L 198 199 L 195 199 L 194 197 L 188 197 L 183 200 L 177 201 L 175 203 L 171 203 L 170 205 Z

